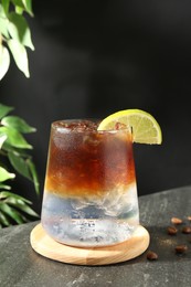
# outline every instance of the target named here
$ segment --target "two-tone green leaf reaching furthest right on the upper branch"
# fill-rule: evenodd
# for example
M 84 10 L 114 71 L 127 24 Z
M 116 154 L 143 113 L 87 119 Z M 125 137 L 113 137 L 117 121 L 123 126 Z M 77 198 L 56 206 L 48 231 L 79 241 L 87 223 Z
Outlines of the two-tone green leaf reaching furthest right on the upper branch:
M 12 12 L 9 15 L 9 21 L 8 31 L 12 39 L 34 51 L 34 45 L 31 40 L 31 31 L 24 17 Z

